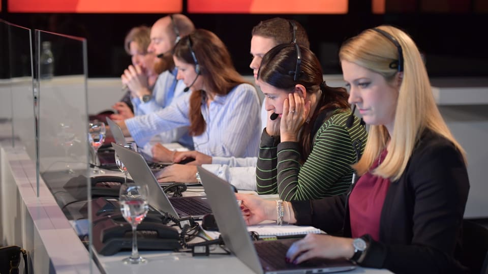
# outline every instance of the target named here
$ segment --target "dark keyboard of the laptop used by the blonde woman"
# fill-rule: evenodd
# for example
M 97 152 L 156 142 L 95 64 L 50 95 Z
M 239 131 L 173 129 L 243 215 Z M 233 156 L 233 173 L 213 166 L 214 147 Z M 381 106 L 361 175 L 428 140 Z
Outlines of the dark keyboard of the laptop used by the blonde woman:
M 258 241 L 254 243 L 254 247 L 256 248 L 259 259 L 265 261 L 274 269 L 302 268 L 313 265 L 309 262 L 303 262 L 299 265 L 287 263 L 285 261 L 286 252 L 290 245 L 285 245 L 280 240 Z

